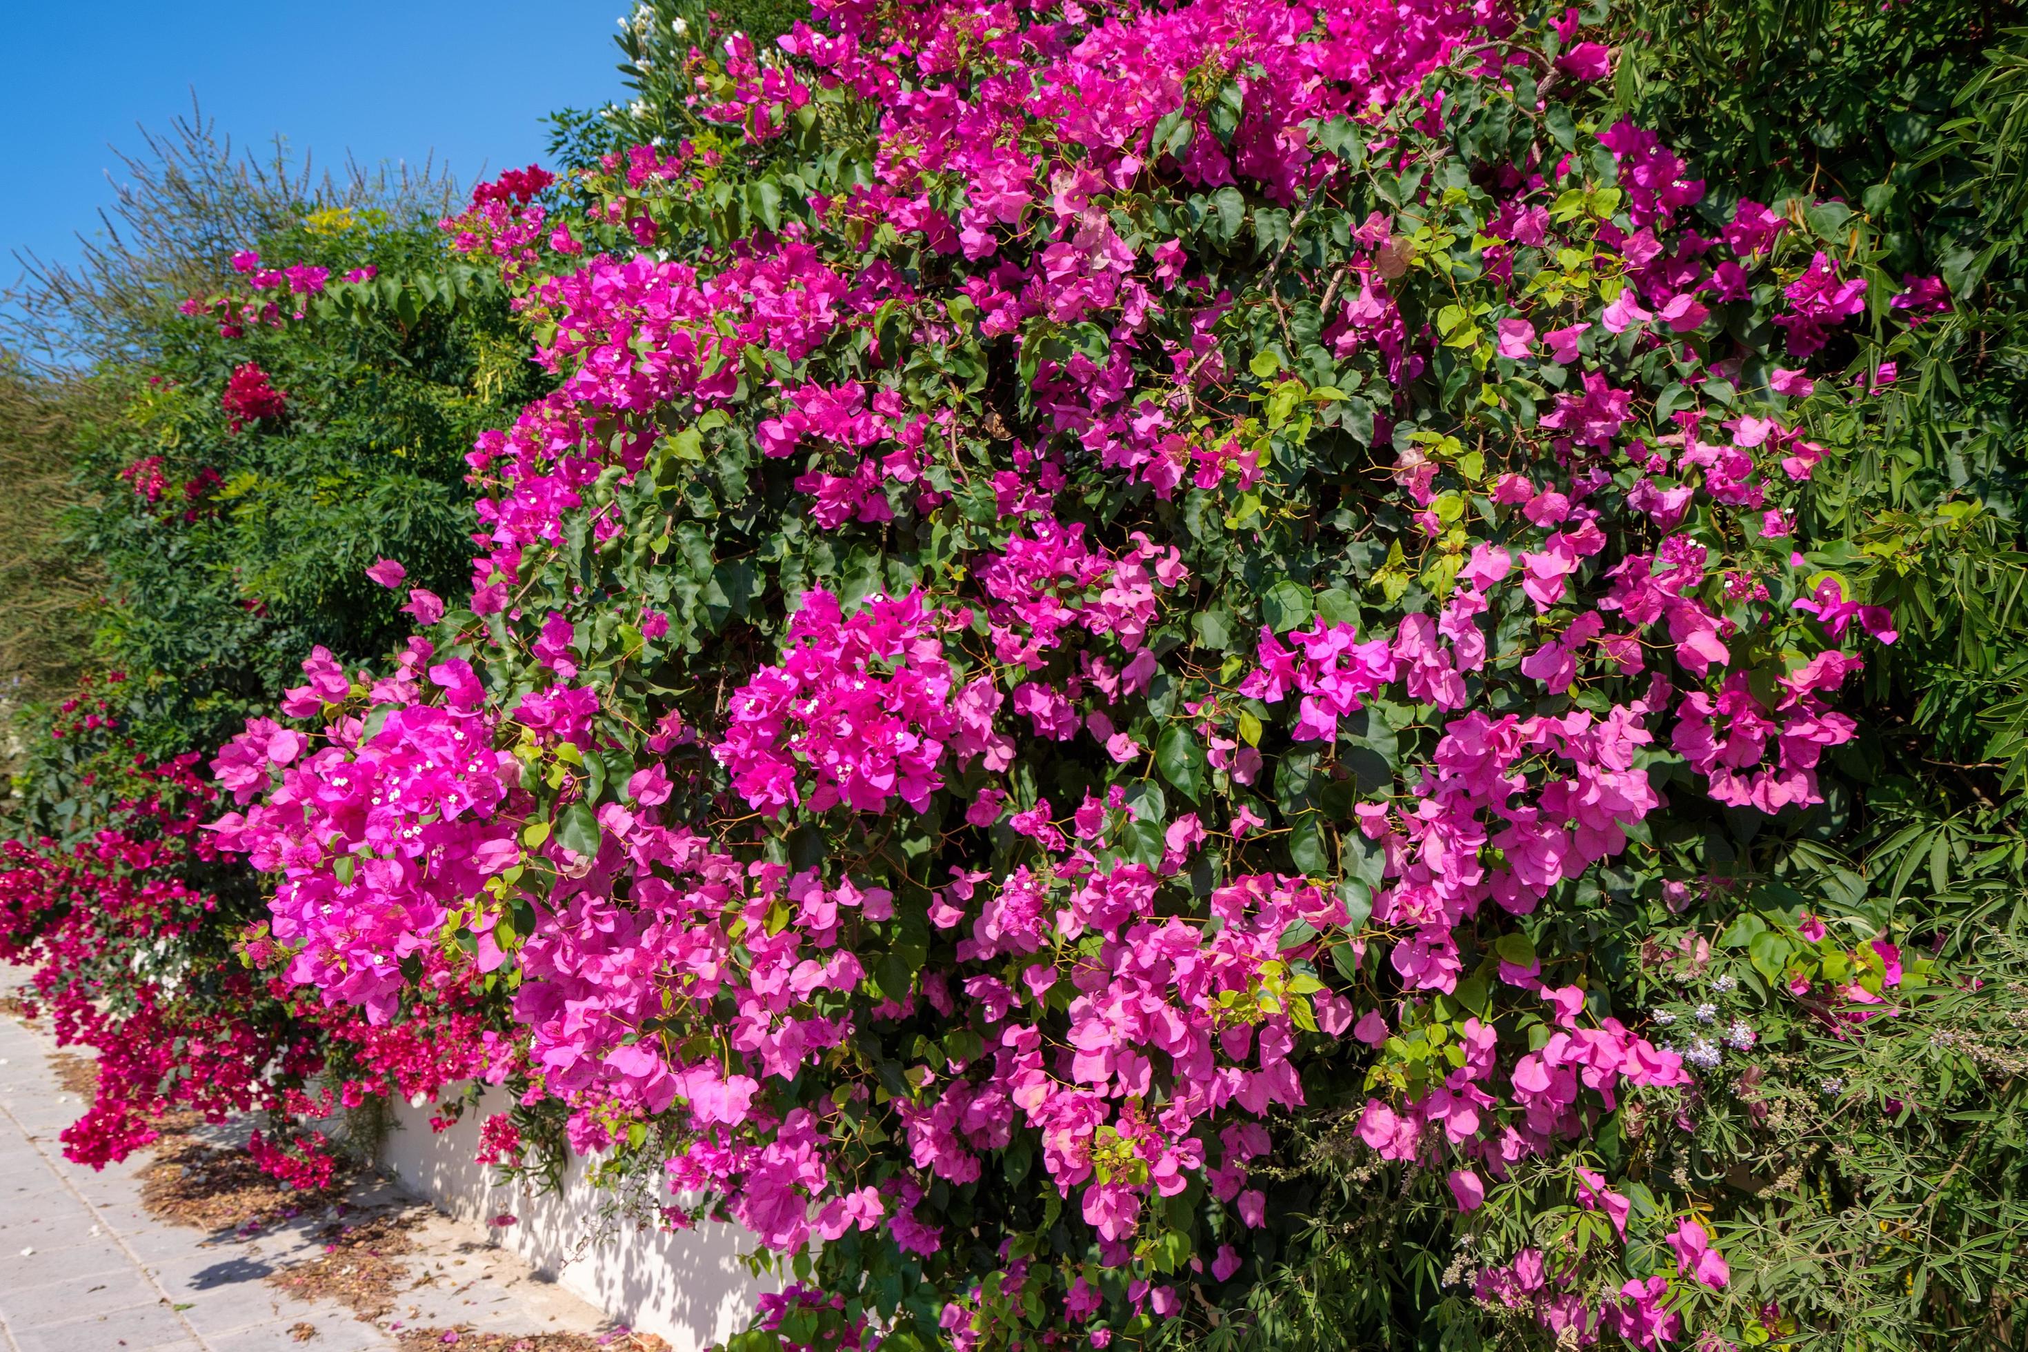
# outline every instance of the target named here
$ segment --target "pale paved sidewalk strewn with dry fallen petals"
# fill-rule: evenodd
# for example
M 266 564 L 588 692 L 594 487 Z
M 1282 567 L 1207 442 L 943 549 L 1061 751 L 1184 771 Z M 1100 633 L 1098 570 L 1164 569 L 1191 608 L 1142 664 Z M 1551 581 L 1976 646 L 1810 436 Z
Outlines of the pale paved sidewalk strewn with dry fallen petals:
M 14 977 L 14 979 L 10 979 Z M 0 969 L 0 987 L 18 969 Z M 367 1324 L 331 1299 L 298 1299 L 266 1277 L 322 1257 L 316 1210 L 245 1236 L 154 1220 L 140 1204 L 144 1153 L 93 1172 L 57 1133 L 81 1111 L 57 1082 L 51 1040 L 0 1016 L 0 1348 L 4 1352 L 391 1352 L 402 1330 L 535 1338 L 610 1324 L 470 1226 L 430 1214 L 402 1255 L 395 1309 Z M 355 1204 L 400 1204 L 391 1192 Z M 432 1338 L 432 1342 L 436 1342 Z M 410 1348 L 416 1344 L 410 1342 Z M 539 1342 L 535 1344 L 539 1346 Z M 621 1346 L 627 1346 L 625 1342 Z

